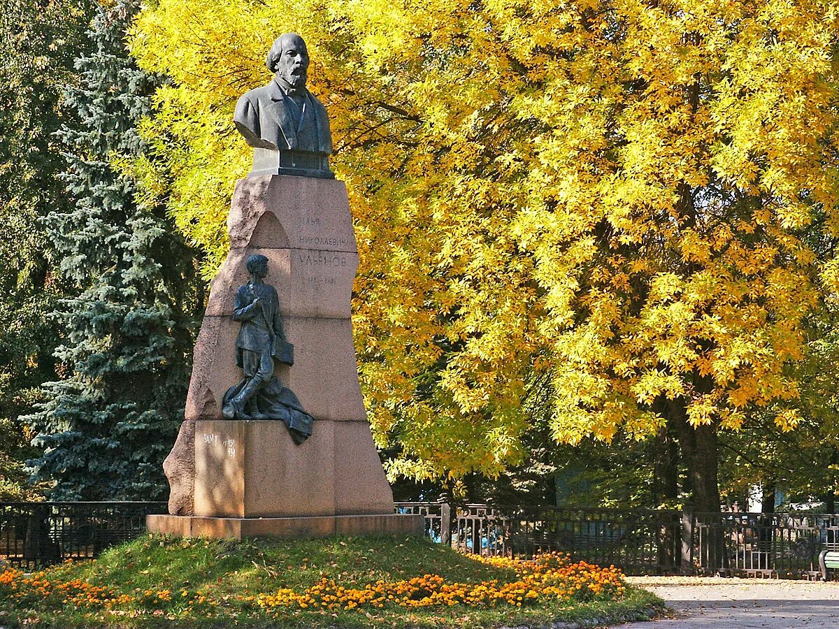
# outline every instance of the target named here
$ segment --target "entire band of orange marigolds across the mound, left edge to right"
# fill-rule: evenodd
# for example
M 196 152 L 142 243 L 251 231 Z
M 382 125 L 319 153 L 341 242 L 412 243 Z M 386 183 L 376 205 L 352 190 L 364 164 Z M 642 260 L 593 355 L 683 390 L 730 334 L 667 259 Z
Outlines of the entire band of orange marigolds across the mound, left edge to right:
M 64 580 L 61 571 L 43 570 L 24 574 L 17 569 L 0 573 L 0 598 L 39 608 L 72 607 L 104 611 L 112 615 L 138 616 L 174 614 L 189 617 L 196 613 L 214 614 L 222 607 L 236 606 L 268 614 L 282 614 L 290 609 L 341 611 L 399 606 L 408 609 L 434 606 L 523 606 L 540 600 L 586 600 L 599 597 L 617 600 L 626 586 L 623 574 L 614 568 L 601 568 L 586 562 L 571 563 L 562 554 L 542 554 L 532 560 L 502 557 L 482 558 L 470 555 L 482 564 L 510 569 L 510 580 L 481 583 L 447 583 L 439 574 L 424 574 L 409 580 L 378 580 L 361 587 L 344 587 L 336 580 L 322 578 L 298 593 L 280 589 L 273 594 L 224 595 L 221 600 L 198 590 L 142 590 L 117 593 L 111 587 L 92 585 L 81 579 Z M 126 611 L 130 610 L 130 611 Z M 174 618 L 175 616 L 169 616 Z

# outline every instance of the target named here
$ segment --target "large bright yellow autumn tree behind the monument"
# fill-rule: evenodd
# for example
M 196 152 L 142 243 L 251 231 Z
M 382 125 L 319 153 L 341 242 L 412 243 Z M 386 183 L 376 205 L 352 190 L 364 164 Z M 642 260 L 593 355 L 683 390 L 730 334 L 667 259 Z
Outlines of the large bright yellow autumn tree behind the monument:
M 172 81 L 135 169 L 171 182 L 211 277 L 248 171 L 232 108 L 299 32 L 391 470 L 503 469 L 549 374 L 555 439 L 666 427 L 716 509 L 717 429 L 778 401 L 795 427 L 784 367 L 819 295 L 812 235 L 836 228 L 837 27 L 830 0 L 156 0 L 133 51 Z

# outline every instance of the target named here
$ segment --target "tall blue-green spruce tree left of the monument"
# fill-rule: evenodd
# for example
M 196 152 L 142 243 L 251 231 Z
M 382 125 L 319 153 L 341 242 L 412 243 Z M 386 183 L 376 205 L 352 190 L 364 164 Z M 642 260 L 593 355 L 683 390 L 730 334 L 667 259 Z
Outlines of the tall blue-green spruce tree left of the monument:
M 138 0 L 98 9 L 81 81 L 65 89 L 79 122 L 63 127 L 70 210 L 45 225 L 60 273 L 78 297 L 53 313 L 64 330 L 55 351 L 63 378 L 44 386 L 29 421 L 43 455 L 34 478 L 55 500 L 155 499 L 161 464 L 183 419 L 195 310 L 195 267 L 162 204 L 140 201 L 113 164 L 146 150 L 136 130 L 158 79 L 129 57 L 125 33 Z

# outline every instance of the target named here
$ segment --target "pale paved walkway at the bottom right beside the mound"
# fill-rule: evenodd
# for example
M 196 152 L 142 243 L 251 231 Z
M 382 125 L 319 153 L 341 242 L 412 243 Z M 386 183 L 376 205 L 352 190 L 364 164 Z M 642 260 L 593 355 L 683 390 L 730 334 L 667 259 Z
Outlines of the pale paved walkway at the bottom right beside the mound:
M 626 629 L 839 629 L 839 583 L 629 577 L 663 598 L 673 618 L 633 622 Z

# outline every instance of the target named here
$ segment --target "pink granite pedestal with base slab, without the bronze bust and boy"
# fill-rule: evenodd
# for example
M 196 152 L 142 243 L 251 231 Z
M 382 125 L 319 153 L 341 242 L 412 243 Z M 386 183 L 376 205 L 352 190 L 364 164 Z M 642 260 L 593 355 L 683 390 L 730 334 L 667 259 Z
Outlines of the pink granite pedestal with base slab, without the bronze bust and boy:
M 164 462 L 169 515 L 149 516 L 149 529 L 232 538 L 422 533 L 421 516 L 394 514 L 367 424 L 352 344 L 358 255 L 346 187 L 249 176 L 237 182 L 227 226 L 231 250 L 211 283 L 185 422 Z M 294 344 L 294 366 L 274 373 L 315 419 L 300 445 L 281 421 L 221 415 L 225 391 L 242 377 L 232 300 L 255 253 L 268 258 L 265 281 Z

